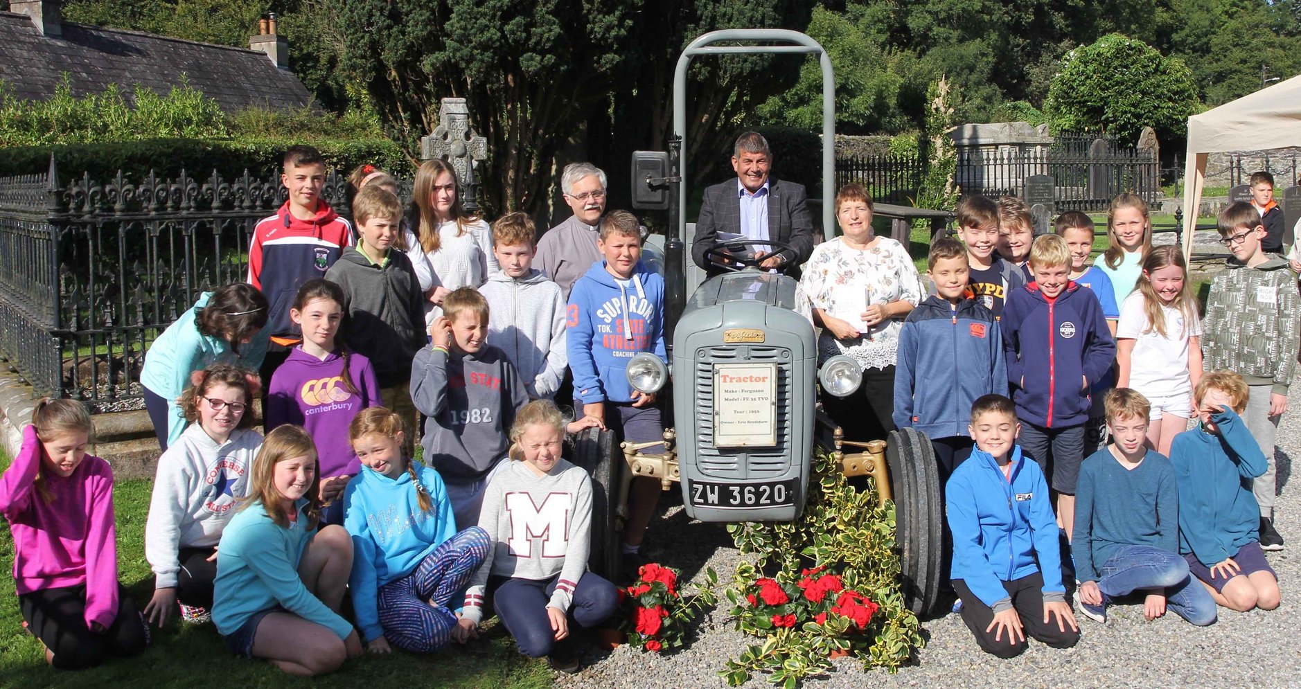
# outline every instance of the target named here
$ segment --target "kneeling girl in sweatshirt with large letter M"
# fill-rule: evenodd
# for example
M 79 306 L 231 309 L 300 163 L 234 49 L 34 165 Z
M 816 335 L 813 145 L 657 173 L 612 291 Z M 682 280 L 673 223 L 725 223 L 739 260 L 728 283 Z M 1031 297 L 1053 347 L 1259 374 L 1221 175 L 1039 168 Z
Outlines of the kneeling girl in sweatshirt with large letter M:
M 510 439 L 511 462 L 488 482 L 479 514 L 493 549 L 475 573 L 453 634 L 461 642 L 476 636 L 490 594 L 520 653 L 546 655 L 553 668 L 576 672 L 576 656 L 558 644 L 569 638 L 570 618 L 591 628 L 618 606 L 614 584 L 587 572 L 592 480 L 561 459 L 565 419 L 549 399 L 519 410 Z

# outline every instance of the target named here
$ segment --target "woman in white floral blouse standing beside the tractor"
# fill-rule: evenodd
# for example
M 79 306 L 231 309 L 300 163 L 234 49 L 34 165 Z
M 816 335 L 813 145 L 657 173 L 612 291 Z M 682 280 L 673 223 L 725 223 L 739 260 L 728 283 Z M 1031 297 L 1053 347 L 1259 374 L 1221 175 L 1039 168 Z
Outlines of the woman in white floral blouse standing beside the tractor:
M 863 386 L 840 399 L 822 395 L 822 407 L 846 439 L 885 438 L 894 430 L 895 352 L 904 317 L 924 294 L 908 250 L 872 234 L 872 198 L 859 185 L 835 194 L 842 237 L 813 250 L 800 285 L 822 328 L 818 363 L 846 354 L 863 367 Z

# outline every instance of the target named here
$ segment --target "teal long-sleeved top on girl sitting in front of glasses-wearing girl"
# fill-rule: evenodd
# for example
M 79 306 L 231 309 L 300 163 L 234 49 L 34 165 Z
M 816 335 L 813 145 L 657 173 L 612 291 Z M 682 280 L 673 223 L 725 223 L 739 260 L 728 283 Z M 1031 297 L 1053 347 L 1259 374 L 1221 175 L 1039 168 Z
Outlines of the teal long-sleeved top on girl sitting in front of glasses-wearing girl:
M 265 507 L 255 502 L 221 532 L 212 590 L 212 623 L 217 632 L 233 634 L 258 612 L 280 606 L 328 627 L 340 638 L 353 633 L 353 624 L 312 595 L 298 577 L 303 550 L 316 529 L 307 528 L 307 499 L 301 498 L 294 507 L 298 521 L 288 529 L 276 525 Z

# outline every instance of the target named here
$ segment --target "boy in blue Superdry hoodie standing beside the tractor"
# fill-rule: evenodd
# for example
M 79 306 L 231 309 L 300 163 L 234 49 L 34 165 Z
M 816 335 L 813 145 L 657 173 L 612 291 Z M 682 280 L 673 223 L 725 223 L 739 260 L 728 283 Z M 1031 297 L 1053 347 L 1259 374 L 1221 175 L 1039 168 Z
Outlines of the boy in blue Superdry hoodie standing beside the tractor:
M 640 261 L 641 229 L 627 211 L 601 218 L 597 248 L 605 259 L 593 263 L 574 283 L 567 307 L 566 350 L 574 372 L 574 413 L 597 419 L 601 428 L 614 430 L 627 442 L 664 439 L 656 395 L 634 390 L 627 378 L 628 360 L 636 354 L 654 352 L 667 364 L 664 278 Z M 661 448 L 650 446 L 644 451 Z M 640 551 L 660 493 L 656 478 L 632 480 L 630 516 L 623 529 L 626 555 Z

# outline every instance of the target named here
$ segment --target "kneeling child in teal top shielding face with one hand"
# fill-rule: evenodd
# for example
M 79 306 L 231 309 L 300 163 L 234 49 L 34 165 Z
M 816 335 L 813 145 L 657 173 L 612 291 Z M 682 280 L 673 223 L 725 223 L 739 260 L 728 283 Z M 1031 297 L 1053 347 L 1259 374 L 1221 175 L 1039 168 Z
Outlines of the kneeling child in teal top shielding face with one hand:
M 1279 578 L 1261 550 L 1252 480 L 1268 463 L 1239 416 L 1248 385 L 1211 370 L 1193 387 L 1201 424 L 1175 436 L 1170 459 L 1179 484 L 1179 554 L 1218 604 L 1245 612 L 1279 607 Z

